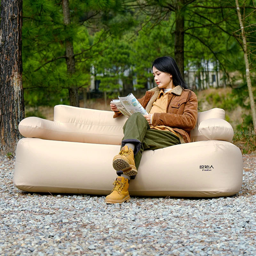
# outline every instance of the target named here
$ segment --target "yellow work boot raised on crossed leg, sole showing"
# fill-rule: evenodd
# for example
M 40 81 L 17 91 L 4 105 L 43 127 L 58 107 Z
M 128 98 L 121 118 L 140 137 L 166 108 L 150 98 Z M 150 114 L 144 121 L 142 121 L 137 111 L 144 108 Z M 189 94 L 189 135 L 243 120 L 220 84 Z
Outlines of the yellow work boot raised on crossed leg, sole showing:
M 123 171 L 125 175 L 136 175 L 137 168 L 134 162 L 134 155 L 132 148 L 124 146 L 118 155 L 114 156 L 113 168 L 116 171 Z

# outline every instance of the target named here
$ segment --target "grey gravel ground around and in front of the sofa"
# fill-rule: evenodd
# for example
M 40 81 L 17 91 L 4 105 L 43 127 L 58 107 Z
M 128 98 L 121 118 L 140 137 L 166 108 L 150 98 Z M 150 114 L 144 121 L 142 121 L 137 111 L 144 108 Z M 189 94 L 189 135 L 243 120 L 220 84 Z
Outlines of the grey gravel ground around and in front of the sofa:
M 256 255 L 256 152 L 242 190 L 214 199 L 29 194 L 0 157 L 0 255 Z

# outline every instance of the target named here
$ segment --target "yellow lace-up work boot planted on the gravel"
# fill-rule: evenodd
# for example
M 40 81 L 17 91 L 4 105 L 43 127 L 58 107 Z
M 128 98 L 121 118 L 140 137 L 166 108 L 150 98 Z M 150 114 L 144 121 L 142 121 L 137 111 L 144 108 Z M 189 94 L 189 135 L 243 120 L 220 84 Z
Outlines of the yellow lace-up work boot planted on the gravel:
M 129 180 L 124 177 L 117 177 L 116 181 L 113 183 L 114 188 L 112 189 L 110 195 L 106 196 L 105 203 L 107 204 L 121 204 L 124 202 L 130 202 L 131 198 L 129 196 Z

